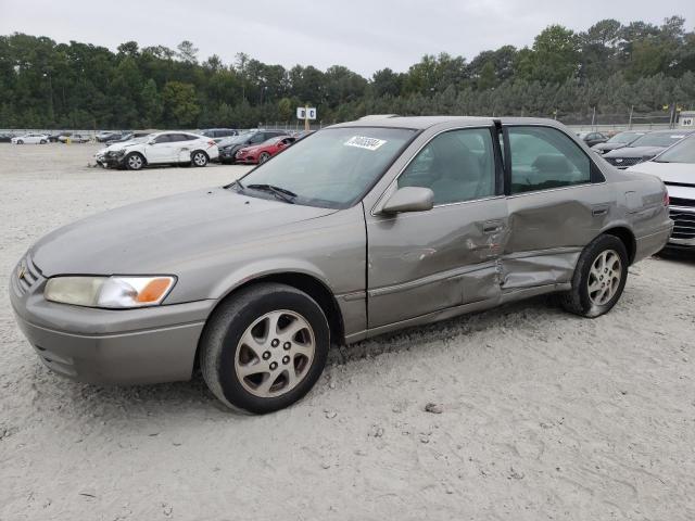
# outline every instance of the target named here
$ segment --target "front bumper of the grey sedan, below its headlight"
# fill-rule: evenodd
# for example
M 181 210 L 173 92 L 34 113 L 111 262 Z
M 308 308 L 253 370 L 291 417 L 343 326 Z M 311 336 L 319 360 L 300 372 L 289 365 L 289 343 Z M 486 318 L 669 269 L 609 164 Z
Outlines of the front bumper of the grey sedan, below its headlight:
M 139 384 L 189 380 L 214 301 L 141 309 L 96 309 L 48 302 L 46 280 L 27 262 L 10 276 L 17 325 L 39 359 L 83 382 Z

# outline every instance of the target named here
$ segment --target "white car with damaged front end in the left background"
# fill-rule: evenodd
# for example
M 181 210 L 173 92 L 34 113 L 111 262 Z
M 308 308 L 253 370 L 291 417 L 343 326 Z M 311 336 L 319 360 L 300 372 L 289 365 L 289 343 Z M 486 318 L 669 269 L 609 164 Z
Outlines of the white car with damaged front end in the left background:
M 151 165 L 205 166 L 219 155 L 212 138 L 197 134 L 155 132 L 100 150 L 97 163 L 106 167 L 139 170 Z

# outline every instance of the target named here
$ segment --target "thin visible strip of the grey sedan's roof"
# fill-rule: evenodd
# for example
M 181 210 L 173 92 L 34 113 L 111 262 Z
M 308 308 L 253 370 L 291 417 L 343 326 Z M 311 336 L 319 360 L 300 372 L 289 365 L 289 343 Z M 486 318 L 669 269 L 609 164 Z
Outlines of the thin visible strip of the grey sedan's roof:
M 491 116 L 369 116 L 356 122 L 340 123 L 331 125 L 328 128 L 345 128 L 345 127 L 387 127 L 387 128 L 407 128 L 412 130 L 425 130 L 437 125 L 458 124 L 462 126 L 490 126 L 495 120 L 502 122 L 503 125 L 546 125 L 553 127 L 561 127 L 563 125 L 555 119 L 546 119 L 541 117 L 491 117 Z

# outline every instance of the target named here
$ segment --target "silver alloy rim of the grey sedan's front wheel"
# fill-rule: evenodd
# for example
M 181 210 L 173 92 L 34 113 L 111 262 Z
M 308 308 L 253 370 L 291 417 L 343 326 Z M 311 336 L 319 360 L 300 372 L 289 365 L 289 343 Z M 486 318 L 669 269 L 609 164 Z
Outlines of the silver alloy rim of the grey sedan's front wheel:
M 270 312 L 254 320 L 235 355 L 235 371 L 244 390 L 267 398 L 296 387 L 312 366 L 315 339 L 308 321 L 295 312 Z

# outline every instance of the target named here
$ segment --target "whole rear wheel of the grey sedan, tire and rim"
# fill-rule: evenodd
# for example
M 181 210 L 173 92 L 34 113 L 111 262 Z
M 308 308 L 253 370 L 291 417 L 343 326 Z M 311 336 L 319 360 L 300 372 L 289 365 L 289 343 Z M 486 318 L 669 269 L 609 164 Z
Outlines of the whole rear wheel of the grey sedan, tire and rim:
M 579 256 L 572 289 L 560 295 L 565 309 L 595 318 L 616 305 L 628 281 L 628 252 L 615 236 L 598 236 Z

